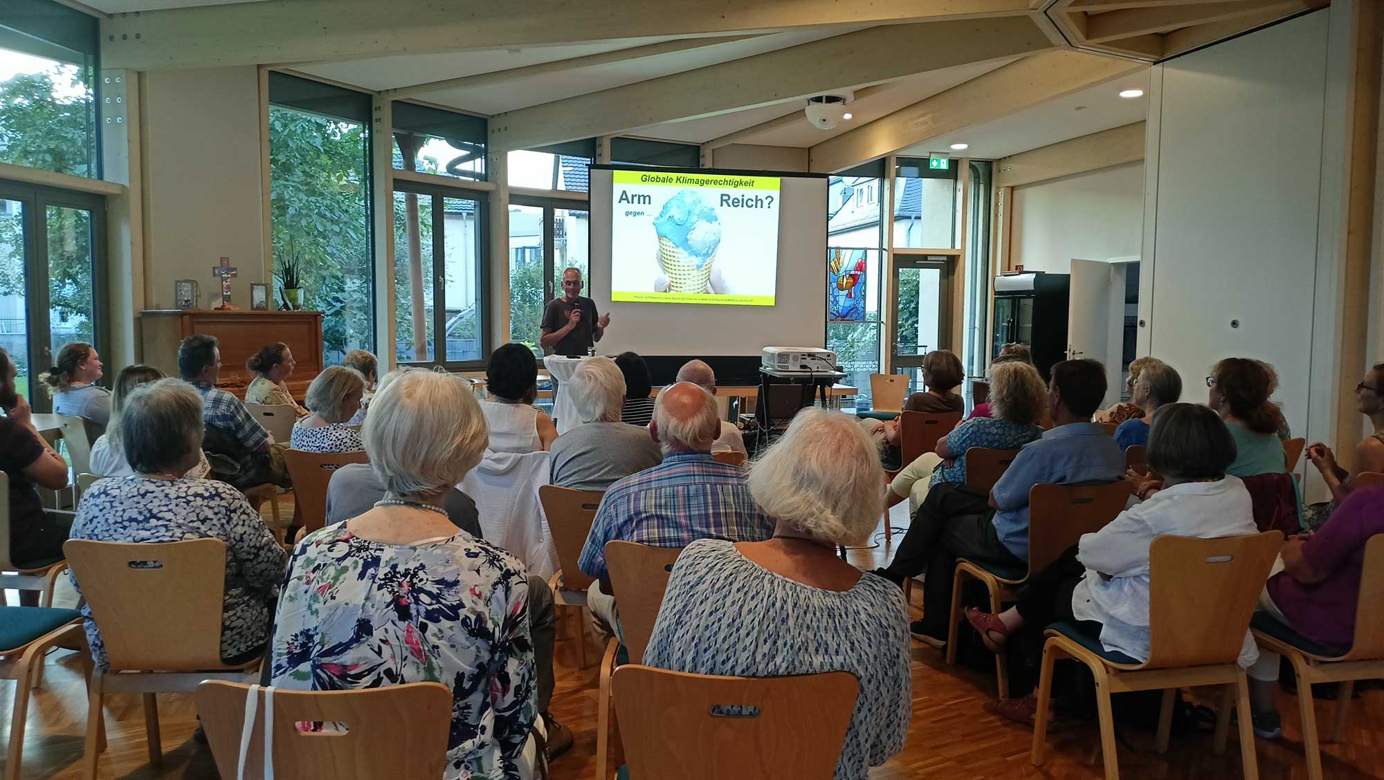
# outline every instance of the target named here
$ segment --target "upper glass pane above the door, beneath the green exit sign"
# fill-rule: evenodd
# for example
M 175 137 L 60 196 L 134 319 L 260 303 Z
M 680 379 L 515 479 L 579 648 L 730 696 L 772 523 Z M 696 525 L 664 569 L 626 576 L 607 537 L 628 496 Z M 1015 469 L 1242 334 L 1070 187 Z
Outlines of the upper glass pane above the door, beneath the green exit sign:
M 956 166 L 929 167 L 926 158 L 900 158 L 894 176 L 894 248 L 960 246 L 960 199 Z

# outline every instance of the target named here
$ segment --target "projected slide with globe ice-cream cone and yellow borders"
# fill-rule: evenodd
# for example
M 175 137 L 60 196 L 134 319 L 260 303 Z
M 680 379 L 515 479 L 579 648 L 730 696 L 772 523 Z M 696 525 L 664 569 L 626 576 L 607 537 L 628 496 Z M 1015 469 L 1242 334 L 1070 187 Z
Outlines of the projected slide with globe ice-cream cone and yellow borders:
M 610 300 L 774 306 L 781 178 L 612 171 Z

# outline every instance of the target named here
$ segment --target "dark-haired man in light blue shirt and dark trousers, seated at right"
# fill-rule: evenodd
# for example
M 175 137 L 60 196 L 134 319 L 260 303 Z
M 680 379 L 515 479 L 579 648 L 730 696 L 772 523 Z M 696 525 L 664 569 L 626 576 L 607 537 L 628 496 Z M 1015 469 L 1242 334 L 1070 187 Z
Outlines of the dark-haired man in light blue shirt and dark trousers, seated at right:
M 1106 369 L 1093 360 L 1068 360 L 1052 368 L 1048 408 L 1053 427 L 1028 443 L 985 496 L 962 485 L 936 485 L 887 568 L 895 582 L 927 571 L 925 618 L 911 629 L 920 639 L 947 638 L 952 571 L 956 559 L 1014 568 L 1028 567 L 1028 490 L 1037 484 L 1109 483 L 1124 476 L 1124 452 L 1091 422 L 1106 396 Z

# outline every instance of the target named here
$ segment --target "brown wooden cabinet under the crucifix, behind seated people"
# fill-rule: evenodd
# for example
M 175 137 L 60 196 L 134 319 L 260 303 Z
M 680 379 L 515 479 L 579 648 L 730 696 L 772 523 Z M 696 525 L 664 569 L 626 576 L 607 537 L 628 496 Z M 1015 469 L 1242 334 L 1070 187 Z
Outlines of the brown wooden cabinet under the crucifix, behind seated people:
M 245 397 L 255 373 L 245 361 L 264 344 L 284 342 L 293 350 L 298 369 L 288 389 L 302 398 L 307 384 L 322 371 L 321 311 L 141 311 L 144 362 L 177 376 L 177 347 L 194 333 L 216 336 L 221 350 L 219 387 Z

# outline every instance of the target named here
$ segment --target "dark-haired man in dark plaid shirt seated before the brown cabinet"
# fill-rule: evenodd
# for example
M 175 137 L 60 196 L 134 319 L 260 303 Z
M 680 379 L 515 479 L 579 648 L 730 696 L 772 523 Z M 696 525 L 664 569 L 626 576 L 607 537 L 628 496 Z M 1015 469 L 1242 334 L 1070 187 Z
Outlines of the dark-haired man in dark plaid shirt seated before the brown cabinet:
M 216 387 L 221 373 L 221 350 L 216 343 L 216 336 L 195 335 L 183 339 L 177 350 L 179 373 L 202 397 L 203 448 L 235 461 L 239 472 L 227 481 L 238 488 L 264 483 L 292 487 L 284 463 L 288 443 L 275 444 L 239 398 Z

